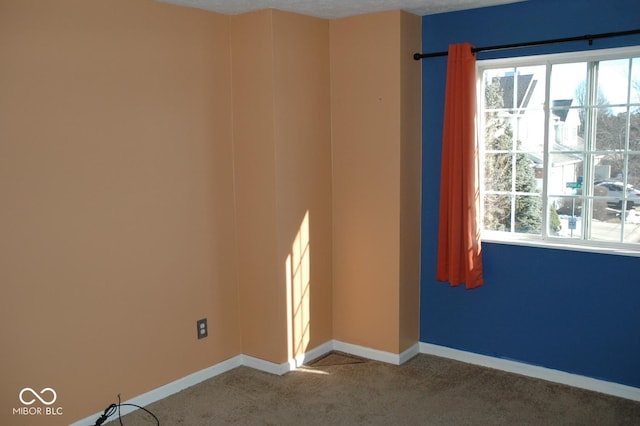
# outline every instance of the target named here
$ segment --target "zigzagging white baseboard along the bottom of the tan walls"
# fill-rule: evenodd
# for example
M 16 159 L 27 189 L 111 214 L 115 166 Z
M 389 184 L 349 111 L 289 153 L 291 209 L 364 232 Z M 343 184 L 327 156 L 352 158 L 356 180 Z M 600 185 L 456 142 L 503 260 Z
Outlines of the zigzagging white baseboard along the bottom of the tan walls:
M 196 385 L 207 379 L 233 370 L 236 367 L 246 366 L 254 368 L 256 370 L 264 371 L 271 374 L 283 375 L 289 371 L 293 371 L 296 368 L 302 366 L 305 362 L 309 362 L 316 358 L 321 357 L 333 350 L 345 352 L 351 355 L 360 356 L 363 358 L 386 362 L 388 364 L 400 365 L 409 359 L 413 358 L 420 352 L 420 346 L 418 343 L 405 350 L 400 354 L 394 354 L 391 352 L 385 352 L 378 349 L 371 349 L 364 346 L 353 345 L 351 343 L 340 342 L 338 340 L 329 340 L 320 346 L 317 346 L 302 355 L 298 355 L 295 358 L 290 359 L 288 362 L 282 364 L 276 364 L 274 362 L 265 361 L 250 355 L 236 355 L 226 361 L 197 371 L 193 374 L 185 376 L 181 379 L 175 380 L 159 388 L 153 389 L 147 393 L 136 396 L 130 400 L 122 401 L 123 404 L 135 404 L 141 407 L 147 406 L 151 403 L 160 401 L 174 393 L 178 393 L 183 389 Z M 136 407 L 122 406 L 120 408 L 121 415 L 125 415 L 137 410 Z M 102 411 L 92 414 L 82 420 L 78 420 L 72 423 L 71 426 L 87 426 L 92 425 L 102 415 Z

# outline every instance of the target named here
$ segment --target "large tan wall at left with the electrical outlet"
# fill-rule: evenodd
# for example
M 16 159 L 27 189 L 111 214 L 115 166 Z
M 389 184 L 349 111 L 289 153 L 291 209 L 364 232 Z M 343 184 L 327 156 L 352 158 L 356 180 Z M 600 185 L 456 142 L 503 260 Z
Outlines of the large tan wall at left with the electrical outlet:
M 228 20 L 0 2 L 0 424 L 55 424 L 24 387 L 68 424 L 240 352 Z

